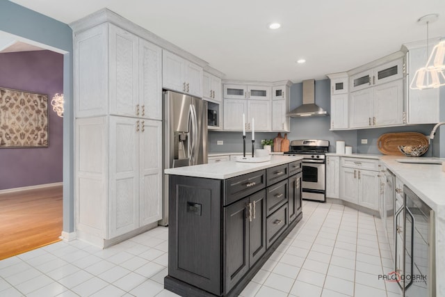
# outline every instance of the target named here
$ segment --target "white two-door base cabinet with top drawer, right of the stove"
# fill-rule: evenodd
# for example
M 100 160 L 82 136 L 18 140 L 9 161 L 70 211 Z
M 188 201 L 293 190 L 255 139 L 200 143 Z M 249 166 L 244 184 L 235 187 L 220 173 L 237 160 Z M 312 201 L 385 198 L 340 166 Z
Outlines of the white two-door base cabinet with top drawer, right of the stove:
M 366 160 L 366 165 L 370 161 L 375 162 L 375 168 L 378 168 L 378 160 Z M 359 159 L 342 158 L 341 163 L 343 166 L 340 168 L 340 198 L 378 211 L 380 198 L 378 170 L 362 168 L 362 162 Z M 354 163 L 355 165 L 346 167 L 345 163 Z

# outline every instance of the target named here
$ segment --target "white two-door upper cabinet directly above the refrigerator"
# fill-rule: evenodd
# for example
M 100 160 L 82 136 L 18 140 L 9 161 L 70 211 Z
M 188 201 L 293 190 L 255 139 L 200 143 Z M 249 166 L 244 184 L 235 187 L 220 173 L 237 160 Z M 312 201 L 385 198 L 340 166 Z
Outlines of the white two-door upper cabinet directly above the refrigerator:
M 202 67 L 163 50 L 163 88 L 202 97 Z

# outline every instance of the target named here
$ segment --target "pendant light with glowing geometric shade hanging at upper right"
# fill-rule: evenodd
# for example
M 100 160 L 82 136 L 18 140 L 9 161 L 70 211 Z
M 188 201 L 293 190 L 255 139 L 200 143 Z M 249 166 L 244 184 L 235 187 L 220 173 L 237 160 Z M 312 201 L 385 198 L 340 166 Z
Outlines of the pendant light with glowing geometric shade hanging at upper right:
M 429 24 L 432 22 L 436 22 L 439 15 L 431 14 L 424 15 L 419 18 L 417 22 L 419 24 L 426 24 L 426 54 L 428 55 L 428 43 L 429 43 Z M 437 48 L 439 53 L 442 53 L 442 48 Z M 416 71 L 414 77 L 412 78 L 410 88 L 412 90 L 425 90 L 429 88 L 438 88 L 441 86 L 441 82 L 445 83 L 444 72 L 441 71 L 438 67 L 434 65 L 430 65 L 430 58 L 427 59 L 425 67 L 421 67 Z

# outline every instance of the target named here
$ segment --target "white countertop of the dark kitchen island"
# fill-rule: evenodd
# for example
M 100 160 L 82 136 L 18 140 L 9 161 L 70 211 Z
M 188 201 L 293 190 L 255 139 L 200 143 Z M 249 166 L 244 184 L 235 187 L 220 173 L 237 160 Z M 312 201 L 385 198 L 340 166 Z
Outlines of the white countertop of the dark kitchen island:
M 274 166 L 291 163 L 301 160 L 302 156 L 273 155 L 270 161 L 260 163 L 243 163 L 236 161 L 218 162 L 165 169 L 168 175 L 184 175 L 189 177 L 204 177 L 211 179 L 228 179 L 238 175 L 245 175 L 250 172 L 262 170 Z

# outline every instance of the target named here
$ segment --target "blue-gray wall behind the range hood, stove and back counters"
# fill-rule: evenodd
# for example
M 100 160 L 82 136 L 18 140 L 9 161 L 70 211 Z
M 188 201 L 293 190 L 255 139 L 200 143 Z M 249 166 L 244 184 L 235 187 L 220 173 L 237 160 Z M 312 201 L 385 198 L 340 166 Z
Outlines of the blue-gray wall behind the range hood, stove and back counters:
M 445 102 L 445 90 L 441 89 L 441 102 Z M 324 79 L 315 83 L 315 103 L 330 113 L 330 80 Z M 295 109 L 302 104 L 302 83 L 294 83 L 291 86 L 290 108 Z M 441 104 L 441 119 L 445 120 L 445 104 Z M 330 152 L 335 152 L 335 142 L 345 141 L 346 145 L 353 147 L 353 152 L 362 154 L 380 154 L 377 140 L 380 135 L 391 132 L 419 132 L 429 135 L 434 125 L 413 125 L 407 127 L 373 128 L 346 131 L 329 131 L 330 116 L 316 116 L 310 118 L 291 118 L 291 132 L 288 134 L 290 140 L 294 139 L 325 139 L 330 141 Z M 445 126 L 442 127 L 445 131 Z M 441 132 L 445 134 L 445 132 Z M 275 138 L 276 133 L 256 133 L 255 138 Z M 283 135 L 282 135 L 283 136 Z M 425 156 L 445 157 L 445 136 L 442 139 L 439 133 L 433 141 L 432 150 L 428 150 Z M 247 134 L 248 145 L 250 135 Z M 367 139 L 368 144 L 362 145 L 362 139 Z M 224 145 L 216 145 L 216 141 L 224 141 Z M 439 146 L 440 143 L 440 146 Z M 248 146 L 250 147 L 250 146 Z M 257 142 L 256 147 L 261 147 Z M 442 149 L 442 150 L 440 150 Z M 209 152 L 241 152 L 243 150 L 243 139 L 241 132 L 209 131 Z M 249 151 L 249 149 L 248 149 Z

